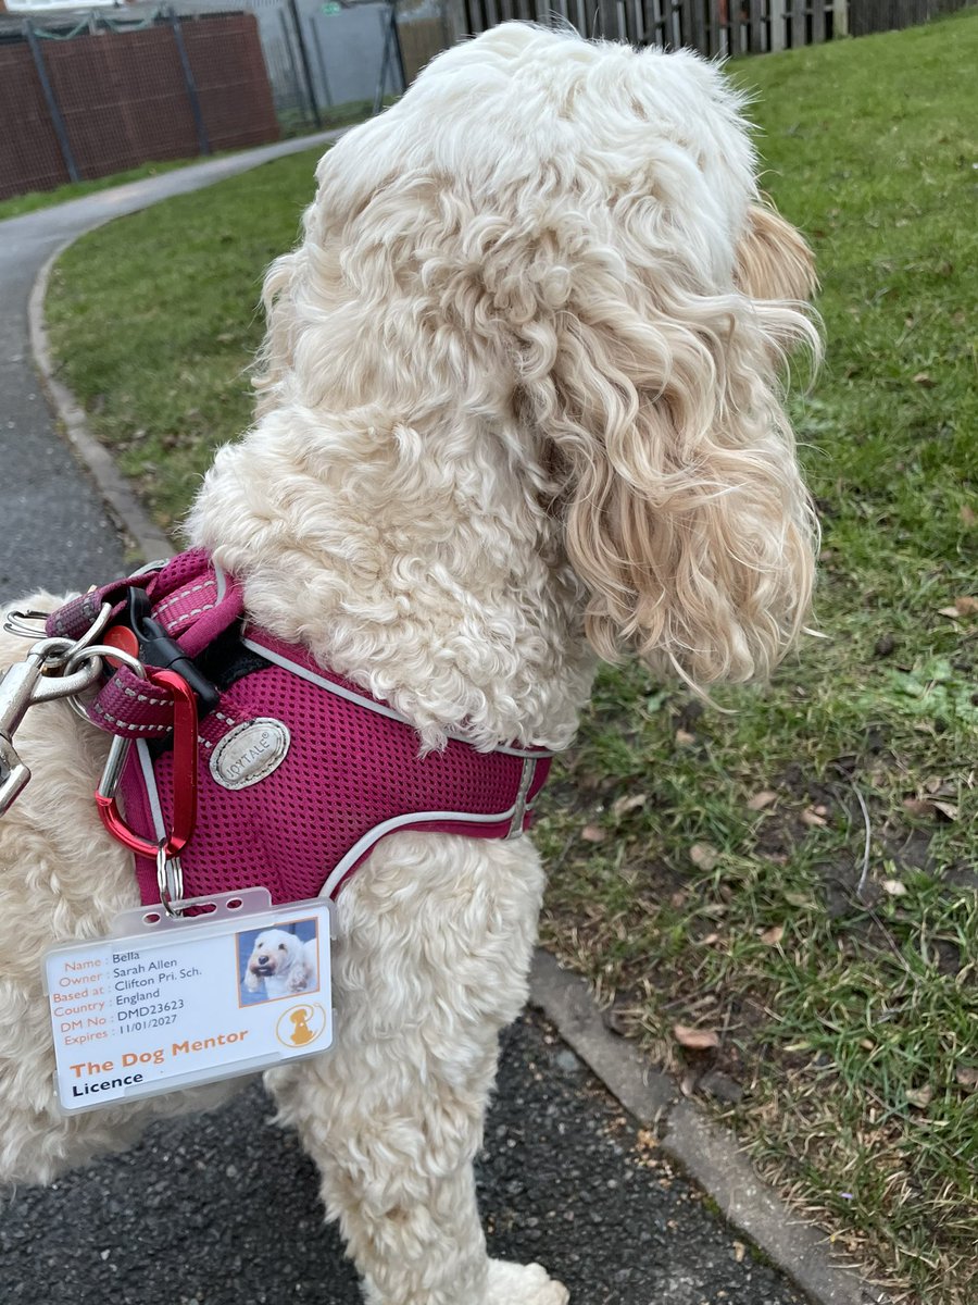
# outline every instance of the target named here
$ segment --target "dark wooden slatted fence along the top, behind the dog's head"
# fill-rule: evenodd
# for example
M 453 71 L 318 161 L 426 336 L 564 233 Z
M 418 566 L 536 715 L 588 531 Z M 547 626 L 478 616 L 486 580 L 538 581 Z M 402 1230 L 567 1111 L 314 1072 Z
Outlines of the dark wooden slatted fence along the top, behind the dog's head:
M 510 18 L 567 22 L 585 37 L 748 55 L 926 22 L 973 0 L 456 0 L 458 35 Z M 450 7 L 450 12 L 452 7 Z

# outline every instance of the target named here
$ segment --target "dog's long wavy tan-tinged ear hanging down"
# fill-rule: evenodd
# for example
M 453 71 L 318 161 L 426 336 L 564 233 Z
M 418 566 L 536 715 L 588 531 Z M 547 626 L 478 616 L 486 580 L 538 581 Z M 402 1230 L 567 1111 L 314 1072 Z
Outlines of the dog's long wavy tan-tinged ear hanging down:
M 615 253 L 579 245 L 523 368 L 588 638 L 695 686 L 764 676 L 803 625 L 818 535 L 777 365 L 818 337 L 784 300 L 711 292 L 690 261 Z

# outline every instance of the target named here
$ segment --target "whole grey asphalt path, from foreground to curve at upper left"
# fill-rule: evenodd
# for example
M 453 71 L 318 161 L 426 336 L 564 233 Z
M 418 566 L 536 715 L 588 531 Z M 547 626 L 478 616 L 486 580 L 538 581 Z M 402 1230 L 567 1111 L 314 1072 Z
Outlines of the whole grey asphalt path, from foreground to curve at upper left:
M 27 347 L 44 261 L 82 231 L 293 149 L 198 164 L 0 223 L 0 599 L 119 574 L 125 540 L 55 429 Z M 342 1036 L 342 1024 L 338 1030 Z M 355 1305 L 316 1173 L 257 1084 L 224 1109 L 0 1208 L 0 1298 L 35 1305 Z M 536 1015 L 503 1040 L 479 1163 L 492 1254 L 540 1259 L 574 1305 L 801 1305 Z M 459 1302 L 468 1305 L 468 1302 Z M 514 1301 L 512 1305 L 520 1305 Z

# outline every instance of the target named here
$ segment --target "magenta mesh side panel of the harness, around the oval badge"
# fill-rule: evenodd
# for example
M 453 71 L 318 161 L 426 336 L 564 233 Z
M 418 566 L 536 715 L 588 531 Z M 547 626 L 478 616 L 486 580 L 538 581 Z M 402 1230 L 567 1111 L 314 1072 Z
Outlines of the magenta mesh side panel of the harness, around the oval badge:
M 248 630 L 248 637 L 365 697 L 325 672 L 305 650 L 261 632 Z M 257 716 L 271 716 L 288 728 L 288 754 L 256 784 L 228 791 L 211 776 L 210 757 L 228 731 Z M 542 752 L 479 753 L 458 740 L 421 758 L 408 724 L 336 697 L 280 666 L 232 685 L 220 710 L 201 723 L 200 739 L 197 830 L 181 857 L 185 897 L 254 885 L 267 887 L 275 903 L 317 897 L 346 859 L 342 877 L 331 886 L 335 893 L 376 842 L 395 831 L 387 827 L 390 822 L 398 822 L 398 829 L 505 838 L 511 833 L 520 783 L 528 784 L 528 806 L 550 766 Z M 164 820 L 172 805 L 172 765 L 167 752 L 153 767 Z M 136 752 L 123 778 L 123 800 L 132 827 L 155 840 L 159 830 Z M 528 822 L 529 814 L 518 812 L 516 830 Z M 143 903 L 159 902 L 155 865 L 137 859 L 137 878 Z

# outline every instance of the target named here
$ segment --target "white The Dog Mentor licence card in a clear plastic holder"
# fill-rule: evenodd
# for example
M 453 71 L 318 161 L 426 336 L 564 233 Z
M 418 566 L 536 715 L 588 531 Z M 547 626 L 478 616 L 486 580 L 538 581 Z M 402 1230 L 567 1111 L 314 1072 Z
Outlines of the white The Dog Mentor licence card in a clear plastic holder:
M 50 951 L 44 980 L 65 1111 L 90 1111 L 314 1056 L 333 1043 L 331 903 L 266 889 L 206 915 L 128 911 L 112 937 Z

